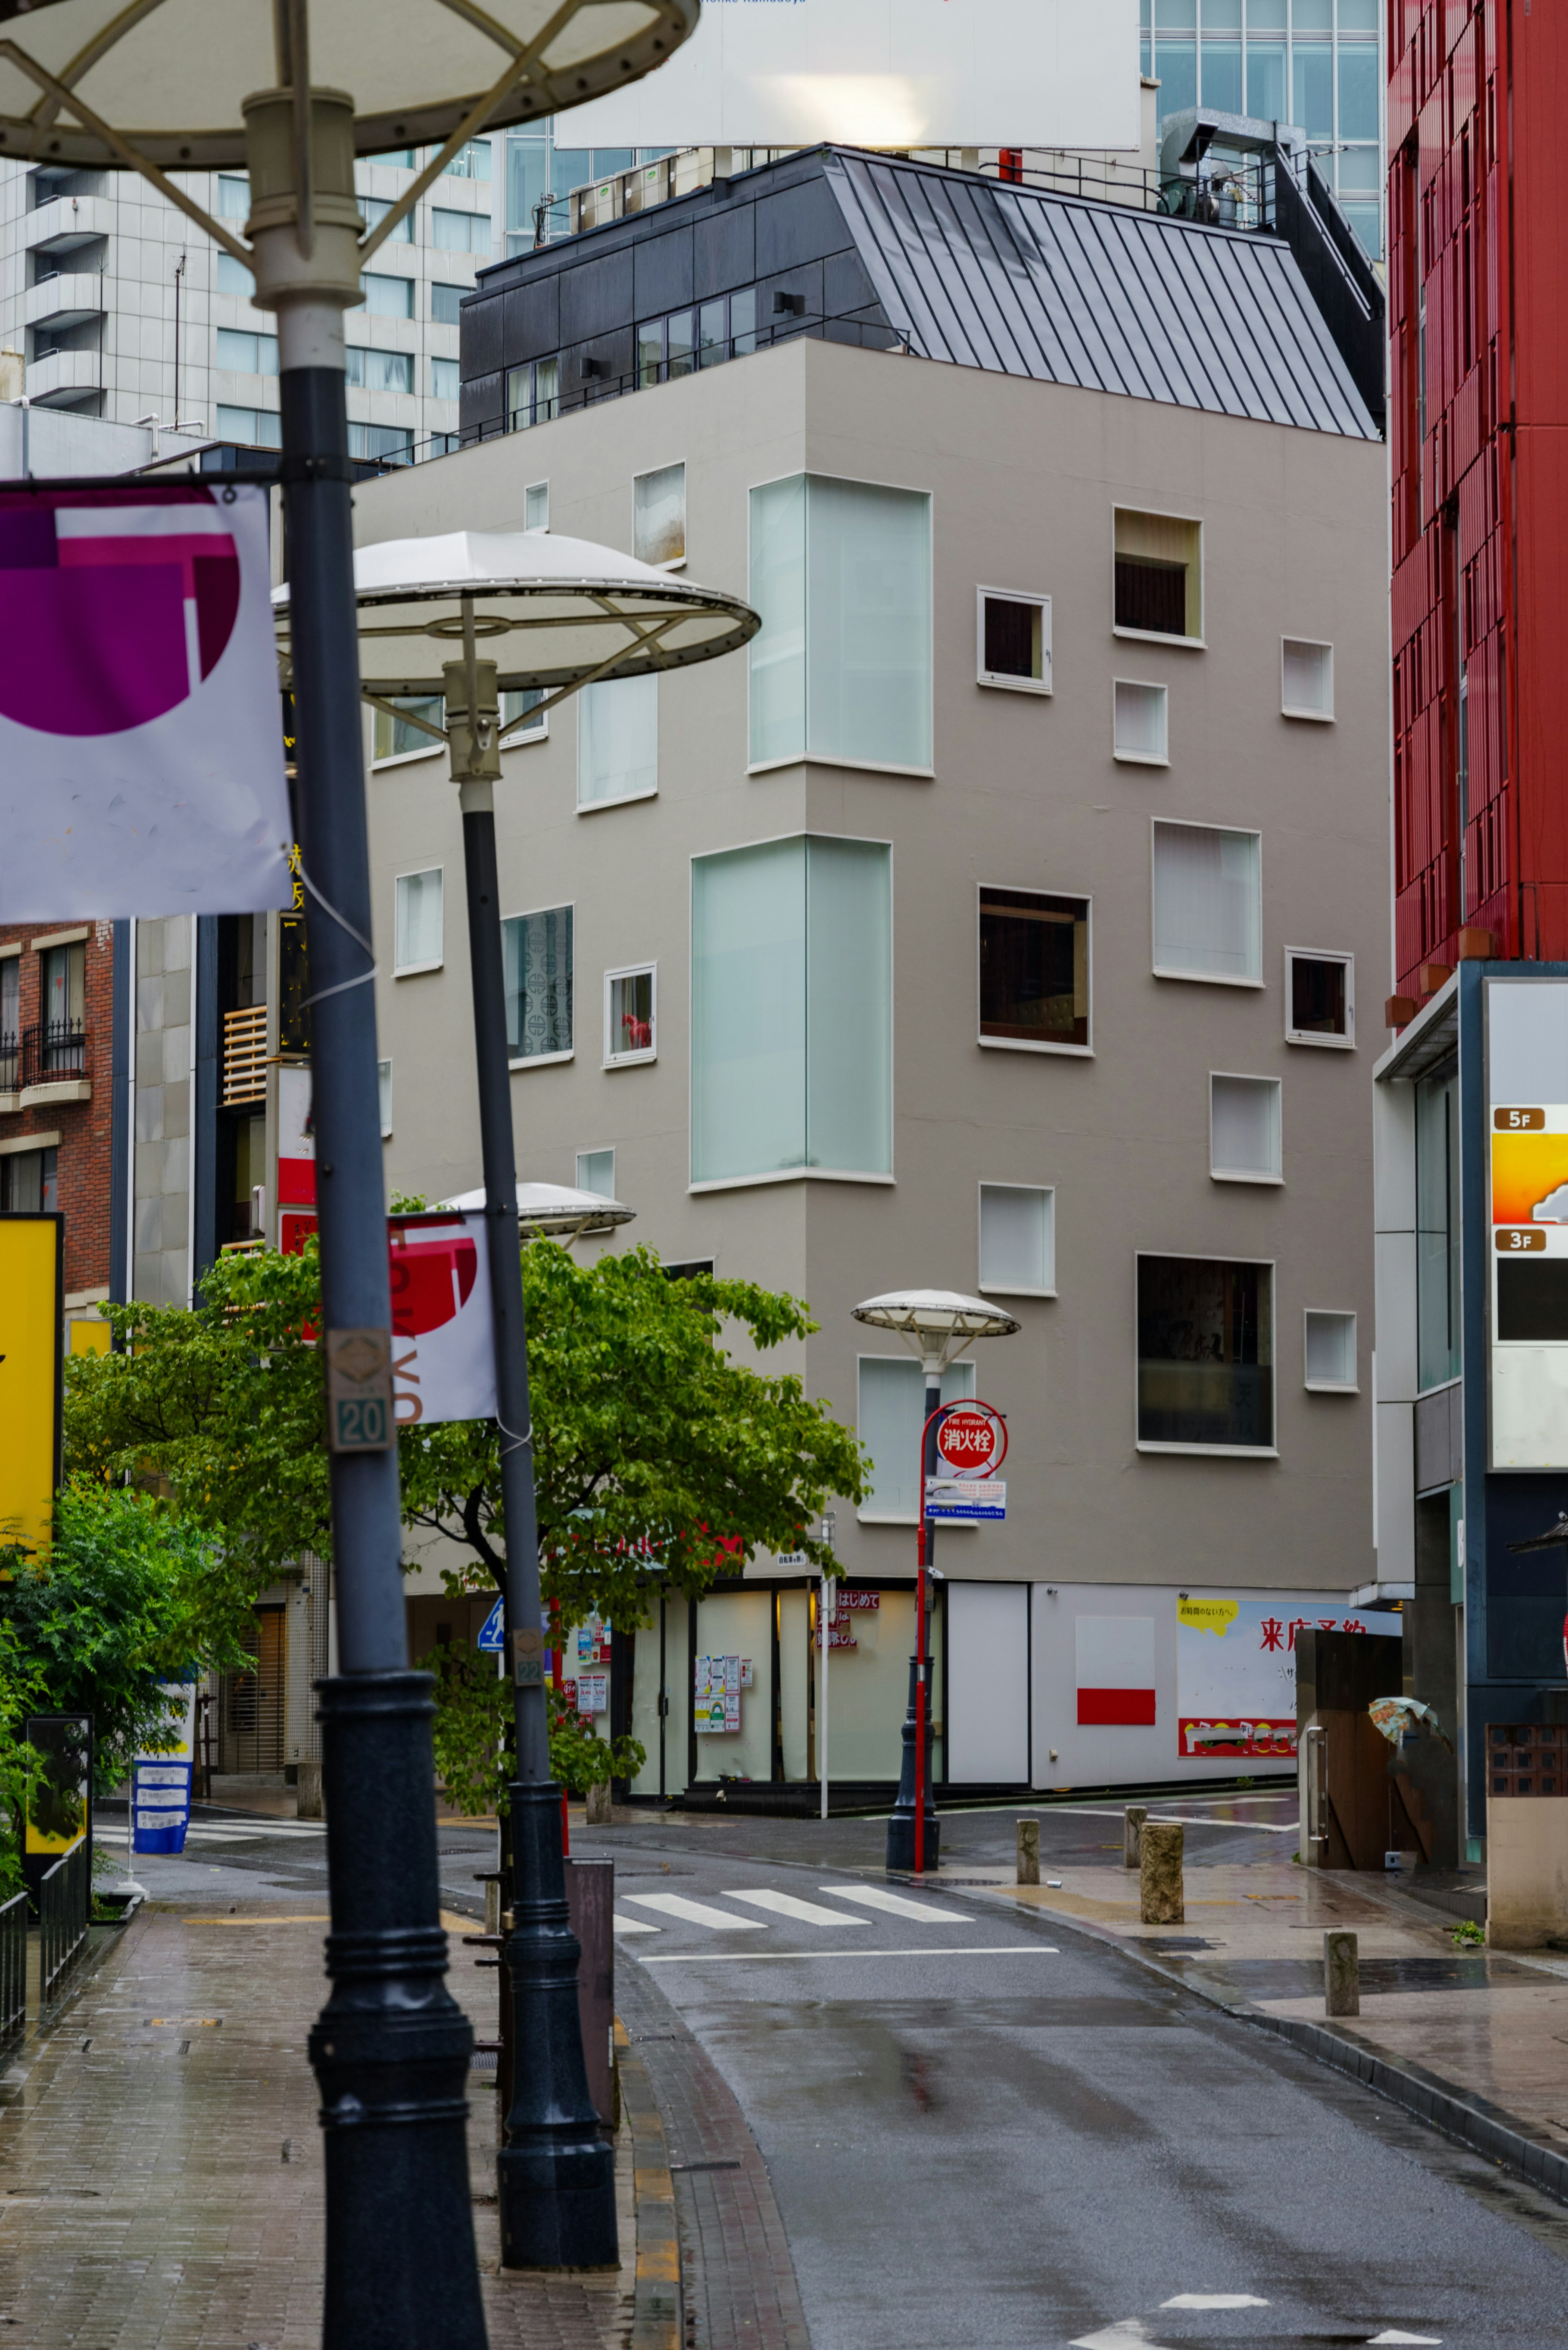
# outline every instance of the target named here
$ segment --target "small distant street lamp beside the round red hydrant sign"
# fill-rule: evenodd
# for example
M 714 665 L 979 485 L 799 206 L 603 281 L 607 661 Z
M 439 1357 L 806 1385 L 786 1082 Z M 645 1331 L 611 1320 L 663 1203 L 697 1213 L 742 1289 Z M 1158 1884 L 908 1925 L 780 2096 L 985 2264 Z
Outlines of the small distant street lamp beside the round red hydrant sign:
M 936 1520 L 926 1516 L 926 1478 L 936 1473 L 936 1434 L 943 1410 L 943 1372 L 976 1337 L 1011 1337 L 1020 1323 L 985 1297 L 957 1290 L 889 1290 L 853 1307 L 853 1318 L 872 1330 L 896 1330 L 926 1372 L 926 1412 L 919 1448 L 919 1542 L 914 1551 L 914 1654 L 910 1657 L 910 1711 L 903 1725 L 898 1802 L 889 1819 L 886 1866 L 922 1875 L 938 1866 L 940 1828 L 931 1802 L 931 1706 L 926 1657 L 926 1570 L 936 1560 Z

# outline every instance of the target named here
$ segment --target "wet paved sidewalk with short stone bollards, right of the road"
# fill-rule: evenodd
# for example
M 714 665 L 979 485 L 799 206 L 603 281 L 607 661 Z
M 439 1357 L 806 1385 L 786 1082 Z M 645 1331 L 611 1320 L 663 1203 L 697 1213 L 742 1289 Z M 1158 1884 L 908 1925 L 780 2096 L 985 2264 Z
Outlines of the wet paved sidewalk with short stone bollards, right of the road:
M 1204 1998 L 1267 2019 L 1568 2200 L 1568 1958 L 1455 1948 L 1458 1920 L 1401 1885 L 1300 1868 L 1284 1854 L 1187 1866 L 1187 1915 L 1175 1927 L 1138 1922 L 1131 1871 L 1053 1864 L 1060 1887 L 1034 1887 L 954 1866 L 933 1882 L 959 1875 L 976 1892 L 985 1875 L 985 1896 L 1084 1927 Z M 1324 2016 L 1326 1927 L 1359 1936 L 1359 2016 Z M 1387 2073 L 1375 2075 L 1375 2061 Z

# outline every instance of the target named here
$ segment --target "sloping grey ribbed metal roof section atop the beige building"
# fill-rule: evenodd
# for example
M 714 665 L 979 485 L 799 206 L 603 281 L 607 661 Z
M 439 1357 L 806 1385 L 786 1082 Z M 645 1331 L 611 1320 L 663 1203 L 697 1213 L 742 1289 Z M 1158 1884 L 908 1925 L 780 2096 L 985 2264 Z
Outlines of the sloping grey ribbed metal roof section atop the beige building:
M 917 357 L 1380 439 L 1279 237 L 844 148 L 823 174 Z

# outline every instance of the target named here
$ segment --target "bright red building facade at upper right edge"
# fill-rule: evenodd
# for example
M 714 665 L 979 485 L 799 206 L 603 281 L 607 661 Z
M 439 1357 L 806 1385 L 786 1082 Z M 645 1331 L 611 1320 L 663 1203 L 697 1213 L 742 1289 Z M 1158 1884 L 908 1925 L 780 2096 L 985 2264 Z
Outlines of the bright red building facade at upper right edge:
M 1568 24 L 1389 0 L 1394 966 L 1568 959 Z

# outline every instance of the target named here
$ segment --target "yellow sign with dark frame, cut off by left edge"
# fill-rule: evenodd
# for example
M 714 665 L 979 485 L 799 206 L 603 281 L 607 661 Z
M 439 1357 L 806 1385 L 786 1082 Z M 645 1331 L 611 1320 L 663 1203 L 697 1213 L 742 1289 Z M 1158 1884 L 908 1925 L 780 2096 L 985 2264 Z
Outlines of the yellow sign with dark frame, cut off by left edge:
M 47 1551 L 61 1436 L 61 1220 L 0 1215 L 0 1542 Z

